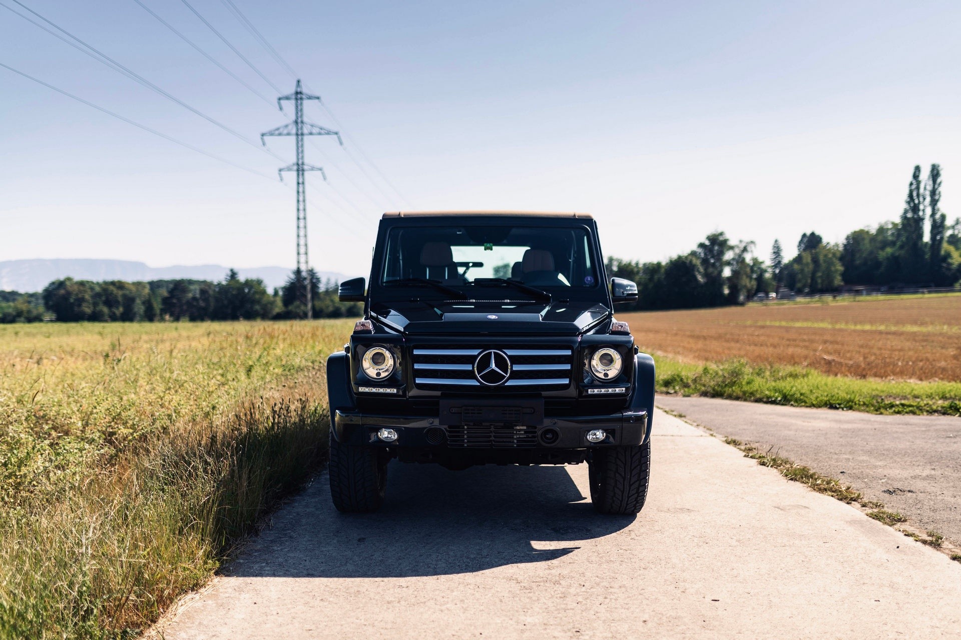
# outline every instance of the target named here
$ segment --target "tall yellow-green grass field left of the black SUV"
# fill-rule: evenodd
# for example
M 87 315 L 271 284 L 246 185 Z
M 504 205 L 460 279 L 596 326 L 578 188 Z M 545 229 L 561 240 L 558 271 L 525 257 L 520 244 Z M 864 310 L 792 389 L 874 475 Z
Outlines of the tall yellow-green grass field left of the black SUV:
M 324 461 L 322 367 L 342 324 L 0 342 L 0 637 L 134 637 L 208 580 Z

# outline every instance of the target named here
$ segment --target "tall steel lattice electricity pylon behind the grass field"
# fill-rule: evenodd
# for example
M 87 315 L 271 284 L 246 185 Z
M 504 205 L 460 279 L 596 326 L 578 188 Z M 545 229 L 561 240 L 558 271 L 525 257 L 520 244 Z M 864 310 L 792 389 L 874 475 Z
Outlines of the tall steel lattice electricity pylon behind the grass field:
M 288 164 L 287 166 L 278 169 L 277 174 L 283 180 L 284 171 L 297 172 L 297 269 L 300 270 L 301 274 L 303 274 L 307 283 L 307 294 L 304 296 L 304 301 L 307 304 L 307 318 L 308 320 L 311 320 L 313 318 L 313 300 L 310 299 L 310 291 L 313 289 L 313 283 L 310 281 L 310 262 L 308 259 L 307 250 L 307 194 L 304 193 L 304 172 L 319 171 L 320 175 L 324 177 L 325 181 L 327 180 L 327 175 L 324 173 L 324 169 L 322 167 L 315 167 L 312 164 L 308 164 L 304 161 L 304 136 L 336 135 L 337 142 L 340 143 L 341 147 L 344 146 L 344 142 L 340 139 L 340 133 L 337 131 L 332 131 L 325 129 L 324 127 L 318 127 L 317 125 L 310 124 L 309 122 L 304 122 L 304 101 L 319 101 L 320 96 L 313 96 L 309 93 L 304 93 L 304 91 L 301 89 L 299 80 L 297 81 L 297 87 L 294 89 L 293 93 L 289 93 L 277 99 L 277 107 L 280 107 L 282 111 L 283 105 L 281 102 L 283 100 L 292 100 L 294 103 L 293 122 L 288 122 L 277 129 L 260 133 L 260 144 L 266 145 L 266 141 L 263 138 L 267 135 L 293 135 L 296 140 L 297 158 L 294 160 L 293 164 Z

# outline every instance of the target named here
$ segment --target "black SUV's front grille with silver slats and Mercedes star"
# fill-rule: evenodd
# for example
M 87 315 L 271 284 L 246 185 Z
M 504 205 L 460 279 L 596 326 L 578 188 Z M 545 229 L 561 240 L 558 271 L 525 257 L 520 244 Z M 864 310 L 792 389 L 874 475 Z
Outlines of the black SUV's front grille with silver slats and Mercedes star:
M 510 359 L 510 376 L 501 385 L 483 385 L 474 375 L 474 363 L 480 352 L 491 348 L 504 351 Z M 571 384 L 573 352 L 565 345 L 537 345 L 537 348 L 425 346 L 414 347 L 412 356 L 414 384 L 420 389 L 541 391 L 561 389 Z

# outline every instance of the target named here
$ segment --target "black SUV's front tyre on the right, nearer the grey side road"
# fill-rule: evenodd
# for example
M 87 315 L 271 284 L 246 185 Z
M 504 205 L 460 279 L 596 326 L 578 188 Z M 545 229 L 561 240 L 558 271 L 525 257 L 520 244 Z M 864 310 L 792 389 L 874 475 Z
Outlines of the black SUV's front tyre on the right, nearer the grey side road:
M 640 446 L 595 449 L 587 468 L 595 510 L 622 515 L 637 513 L 648 497 L 651 440 Z

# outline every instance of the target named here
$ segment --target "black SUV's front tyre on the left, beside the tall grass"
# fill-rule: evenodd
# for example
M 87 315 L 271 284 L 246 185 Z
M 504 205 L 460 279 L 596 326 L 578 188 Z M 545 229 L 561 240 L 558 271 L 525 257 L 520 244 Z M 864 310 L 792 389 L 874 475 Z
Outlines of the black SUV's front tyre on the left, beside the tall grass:
M 381 508 L 387 487 L 387 459 L 377 449 L 341 444 L 331 435 L 331 498 L 342 513 Z

